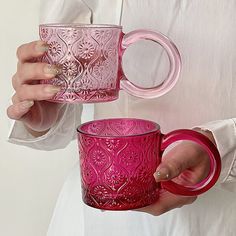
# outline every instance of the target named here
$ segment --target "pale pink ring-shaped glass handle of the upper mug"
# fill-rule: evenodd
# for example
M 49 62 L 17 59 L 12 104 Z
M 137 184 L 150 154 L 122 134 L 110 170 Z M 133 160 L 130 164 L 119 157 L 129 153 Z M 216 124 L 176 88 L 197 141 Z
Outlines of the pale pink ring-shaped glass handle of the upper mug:
M 121 59 L 128 46 L 143 39 L 151 40 L 155 43 L 160 44 L 167 52 L 170 61 L 170 71 L 168 73 L 168 77 L 162 84 L 156 87 L 141 88 L 139 86 L 134 85 L 131 81 L 129 81 L 124 75 L 122 70 L 122 79 L 120 81 L 120 87 L 121 89 L 124 89 L 129 94 L 136 97 L 141 97 L 141 98 L 160 97 L 165 93 L 169 92 L 175 86 L 181 70 L 181 65 L 182 65 L 181 56 L 175 44 L 165 35 L 150 30 L 134 30 L 130 33 L 124 34 L 123 36 L 120 46 Z

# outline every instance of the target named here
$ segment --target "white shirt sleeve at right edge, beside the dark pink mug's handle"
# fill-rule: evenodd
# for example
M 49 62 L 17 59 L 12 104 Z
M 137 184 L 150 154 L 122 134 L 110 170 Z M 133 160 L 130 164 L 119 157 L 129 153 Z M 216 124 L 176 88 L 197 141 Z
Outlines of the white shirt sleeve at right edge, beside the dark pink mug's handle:
M 198 127 L 212 132 L 219 150 L 222 170 L 218 183 L 236 192 L 236 118 L 213 121 Z

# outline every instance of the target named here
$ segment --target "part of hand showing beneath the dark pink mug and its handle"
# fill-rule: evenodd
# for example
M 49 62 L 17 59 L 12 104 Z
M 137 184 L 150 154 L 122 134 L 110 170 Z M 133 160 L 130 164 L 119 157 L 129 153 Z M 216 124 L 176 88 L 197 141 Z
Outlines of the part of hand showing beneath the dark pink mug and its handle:
M 161 190 L 159 199 L 156 203 L 144 208 L 140 208 L 138 211 L 144 211 L 154 216 L 159 216 L 172 209 L 192 204 L 196 199 L 197 197 L 177 196 L 165 190 Z

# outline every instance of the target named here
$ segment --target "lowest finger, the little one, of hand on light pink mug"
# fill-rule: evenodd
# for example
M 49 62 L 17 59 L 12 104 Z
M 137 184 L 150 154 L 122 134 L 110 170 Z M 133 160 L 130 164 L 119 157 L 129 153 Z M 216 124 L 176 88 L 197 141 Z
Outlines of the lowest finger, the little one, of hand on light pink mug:
M 33 101 L 23 101 L 13 104 L 7 108 L 7 115 L 10 119 L 20 120 L 33 105 Z

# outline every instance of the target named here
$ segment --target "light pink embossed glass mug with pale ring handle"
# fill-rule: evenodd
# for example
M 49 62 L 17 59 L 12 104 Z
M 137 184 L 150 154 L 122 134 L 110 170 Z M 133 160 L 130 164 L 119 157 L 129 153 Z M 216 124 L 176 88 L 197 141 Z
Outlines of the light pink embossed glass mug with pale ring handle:
M 178 49 L 158 32 L 136 30 L 124 34 L 117 25 L 43 24 L 39 34 L 49 44 L 41 60 L 62 69 L 55 79 L 41 81 L 61 86 L 62 90 L 50 99 L 54 102 L 107 102 L 116 100 L 120 89 L 137 97 L 159 97 L 173 88 L 181 70 Z M 166 80 L 147 89 L 130 82 L 122 70 L 126 48 L 142 39 L 160 44 L 170 62 Z

